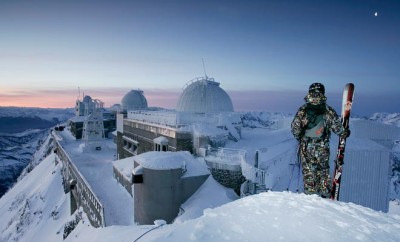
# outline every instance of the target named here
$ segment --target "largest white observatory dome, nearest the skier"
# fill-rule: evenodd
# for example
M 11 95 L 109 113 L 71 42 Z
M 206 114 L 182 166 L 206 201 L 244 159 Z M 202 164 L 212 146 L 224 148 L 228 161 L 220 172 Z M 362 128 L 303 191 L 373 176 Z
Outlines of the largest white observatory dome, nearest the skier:
M 233 112 L 229 95 L 213 78 L 197 78 L 189 82 L 178 99 L 176 110 L 192 113 Z

